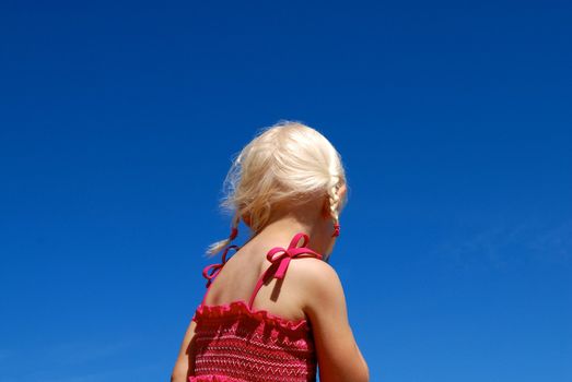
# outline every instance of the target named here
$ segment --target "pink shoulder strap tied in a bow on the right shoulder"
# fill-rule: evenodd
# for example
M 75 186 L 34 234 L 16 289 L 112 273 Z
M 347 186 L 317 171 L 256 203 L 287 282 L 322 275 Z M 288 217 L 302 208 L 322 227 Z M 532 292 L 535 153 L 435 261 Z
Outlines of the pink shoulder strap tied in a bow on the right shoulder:
M 303 238 L 304 241 L 302 242 L 302 247 L 297 247 L 297 242 L 300 241 L 300 238 Z M 253 295 L 250 296 L 250 300 L 248 301 L 248 308 L 253 309 L 253 302 L 256 298 L 256 295 L 258 294 L 258 290 L 262 287 L 262 284 L 265 284 L 267 280 L 269 280 L 271 277 L 283 279 L 285 276 L 285 272 L 288 270 L 288 265 L 290 264 L 290 261 L 292 259 L 296 258 L 317 258 L 322 259 L 322 254 L 314 252 L 310 248 L 306 248 L 308 242 L 308 236 L 303 232 L 296 234 L 292 240 L 290 241 L 290 246 L 288 246 L 287 249 L 283 249 L 281 247 L 275 247 L 268 253 L 266 254 L 266 259 L 271 262 L 270 266 L 266 268 L 266 271 L 262 273 L 262 275 L 258 278 L 258 282 L 256 283 L 256 286 L 254 288 Z

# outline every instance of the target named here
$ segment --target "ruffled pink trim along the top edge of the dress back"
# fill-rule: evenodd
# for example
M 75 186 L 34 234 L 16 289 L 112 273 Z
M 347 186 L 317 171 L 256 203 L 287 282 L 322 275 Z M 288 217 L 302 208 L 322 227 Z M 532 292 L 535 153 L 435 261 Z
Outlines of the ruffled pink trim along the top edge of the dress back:
M 243 301 L 233 301 L 220 306 L 206 306 L 199 305 L 195 312 L 194 321 L 198 321 L 202 318 L 222 318 L 222 317 L 234 317 L 234 315 L 248 315 L 258 321 L 262 321 L 267 324 L 280 326 L 290 331 L 310 331 L 310 324 L 307 320 L 287 320 L 280 315 L 270 313 L 267 310 L 252 310 L 248 305 Z

